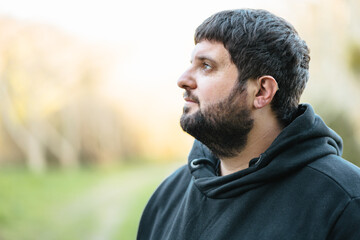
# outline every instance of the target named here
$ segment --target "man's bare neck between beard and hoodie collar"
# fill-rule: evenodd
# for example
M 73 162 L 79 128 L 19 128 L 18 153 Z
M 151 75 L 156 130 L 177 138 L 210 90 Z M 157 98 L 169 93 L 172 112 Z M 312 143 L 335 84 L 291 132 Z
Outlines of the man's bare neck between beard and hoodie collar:
M 280 134 L 282 127 L 275 117 L 255 118 L 254 127 L 249 132 L 244 149 L 231 158 L 220 159 L 220 172 L 222 176 L 248 168 L 249 161 L 265 152 Z

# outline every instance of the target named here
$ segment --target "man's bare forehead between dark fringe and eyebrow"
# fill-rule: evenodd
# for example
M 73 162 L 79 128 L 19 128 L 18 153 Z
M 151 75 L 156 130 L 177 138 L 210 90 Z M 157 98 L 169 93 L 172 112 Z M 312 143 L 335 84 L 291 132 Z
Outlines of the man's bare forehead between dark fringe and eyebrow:
M 191 60 L 209 59 L 218 63 L 231 63 L 228 50 L 220 42 L 203 40 L 197 43 L 191 55 Z

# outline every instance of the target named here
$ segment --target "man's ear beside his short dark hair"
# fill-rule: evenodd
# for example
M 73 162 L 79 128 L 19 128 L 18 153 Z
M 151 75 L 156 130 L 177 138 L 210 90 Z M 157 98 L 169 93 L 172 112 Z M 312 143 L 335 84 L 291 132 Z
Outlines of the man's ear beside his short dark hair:
M 257 86 L 258 92 L 254 99 L 254 107 L 260 109 L 271 102 L 279 88 L 275 78 L 268 75 L 258 78 Z

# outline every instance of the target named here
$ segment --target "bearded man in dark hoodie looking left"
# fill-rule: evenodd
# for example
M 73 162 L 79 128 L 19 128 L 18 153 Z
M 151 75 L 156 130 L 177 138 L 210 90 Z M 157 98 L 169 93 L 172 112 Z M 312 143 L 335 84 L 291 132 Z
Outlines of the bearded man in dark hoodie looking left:
M 138 239 L 360 239 L 360 171 L 300 104 L 309 50 L 264 10 L 217 13 L 196 30 L 185 90 L 189 164 L 149 200 Z

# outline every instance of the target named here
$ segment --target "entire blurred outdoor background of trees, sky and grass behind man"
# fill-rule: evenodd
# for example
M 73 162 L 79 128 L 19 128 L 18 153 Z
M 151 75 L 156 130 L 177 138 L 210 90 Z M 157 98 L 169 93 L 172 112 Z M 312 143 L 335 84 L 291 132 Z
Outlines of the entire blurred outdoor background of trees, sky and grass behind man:
M 0 239 L 135 239 L 186 163 L 182 90 L 195 28 L 263 8 L 311 51 L 311 103 L 360 165 L 360 1 L 0 0 Z

